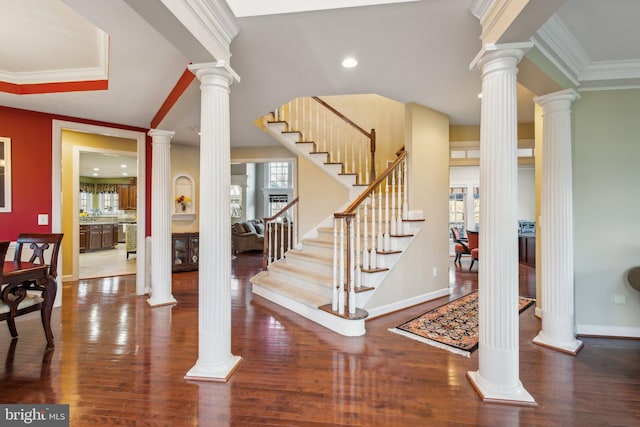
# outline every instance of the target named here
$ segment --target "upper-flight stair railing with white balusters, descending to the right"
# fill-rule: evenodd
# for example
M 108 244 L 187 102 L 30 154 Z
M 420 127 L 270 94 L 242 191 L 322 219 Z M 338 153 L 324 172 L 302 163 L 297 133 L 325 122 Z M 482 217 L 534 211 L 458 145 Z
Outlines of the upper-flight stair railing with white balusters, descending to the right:
M 355 174 L 359 184 L 376 177 L 376 131 L 367 132 L 317 96 L 296 98 L 274 111 L 275 121 L 315 142 L 328 163 L 342 163 L 343 174 Z

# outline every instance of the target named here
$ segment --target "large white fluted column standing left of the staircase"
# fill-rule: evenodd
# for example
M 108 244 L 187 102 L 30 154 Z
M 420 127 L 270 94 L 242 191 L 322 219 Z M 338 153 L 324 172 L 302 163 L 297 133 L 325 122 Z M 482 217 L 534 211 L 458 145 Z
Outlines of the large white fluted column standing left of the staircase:
M 231 354 L 231 135 L 229 87 L 239 80 L 224 61 L 189 67 L 200 80 L 200 262 L 198 361 L 185 378 L 226 381 Z

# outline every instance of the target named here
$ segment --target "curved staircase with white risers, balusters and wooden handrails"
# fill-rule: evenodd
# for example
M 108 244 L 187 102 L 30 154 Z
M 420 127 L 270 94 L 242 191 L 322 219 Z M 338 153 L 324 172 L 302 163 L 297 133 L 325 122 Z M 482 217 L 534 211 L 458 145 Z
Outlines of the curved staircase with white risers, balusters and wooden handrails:
M 288 108 L 265 116 L 265 129 L 347 188 L 353 203 L 301 241 L 290 243 L 279 259 L 271 256 L 271 249 L 265 251 L 267 269 L 251 278 L 253 292 L 342 335 L 364 335 L 368 313 L 361 307 L 385 286 L 385 278 L 424 222 L 409 219 L 406 153 L 376 177 L 375 156 L 368 157 L 367 146 L 363 149 L 344 140 L 306 141 L 304 134 L 313 135 L 316 130 L 317 139 L 329 136 L 329 131 L 323 125 L 322 135 L 319 125 L 313 129 L 313 124 L 303 123 L 305 101 L 302 108 L 300 101 L 295 102 L 295 108 L 289 103 Z M 311 111 L 311 118 L 318 120 L 319 110 L 308 102 L 305 113 Z M 307 130 L 303 134 L 294 127 Z M 375 131 L 371 134 L 375 140 Z M 336 147 L 342 152 L 336 153 Z

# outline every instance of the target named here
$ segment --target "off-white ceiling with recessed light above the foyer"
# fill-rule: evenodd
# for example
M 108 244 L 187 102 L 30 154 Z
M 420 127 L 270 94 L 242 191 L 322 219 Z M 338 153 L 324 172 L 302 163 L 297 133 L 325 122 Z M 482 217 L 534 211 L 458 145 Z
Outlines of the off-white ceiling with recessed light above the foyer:
M 359 5 L 383 0 L 348 1 Z M 469 64 L 481 48 L 482 29 L 470 12 L 471 0 L 293 13 L 279 9 L 275 14 L 251 7 L 300 2 L 228 3 L 242 15 L 237 19 L 240 32 L 231 43 L 231 66 L 241 77 L 230 95 L 233 147 L 277 145 L 253 122 L 298 96 L 375 93 L 441 111 L 452 124 L 480 121 L 481 78 Z M 182 43 L 178 50 L 168 40 L 176 44 L 175 32 L 180 29 L 159 26 L 146 16 L 160 28 L 156 30 L 132 9 L 136 4 L 134 0 L 0 0 L 0 39 L 21 41 L 0 43 L 0 77 L 9 72 L 9 78 L 22 78 L 30 71 L 38 75 L 66 66 L 75 67 L 74 72 L 99 68 L 101 38 L 92 25 L 109 40 L 108 90 L 0 92 L 0 105 L 149 128 L 188 64 L 202 61 L 202 47 L 185 48 Z M 344 5 L 345 0 L 320 4 Z M 162 7 L 160 2 L 157 7 Z M 548 31 L 536 35 L 536 45 L 544 46 L 552 62 L 580 87 L 593 88 L 598 81 L 638 87 L 639 19 L 637 0 L 567 0 L 545 25 Z M 60 43 L 55 42 L 58 38 Z M 358 67 L 341 67 L 346 55 L 357 57 Z M 520 88 L 521 122 L 533 121 L 532 95 Z M 158 127 L 175 131 L 174 143 L 197 145 L 199 105 L 194 81 Z

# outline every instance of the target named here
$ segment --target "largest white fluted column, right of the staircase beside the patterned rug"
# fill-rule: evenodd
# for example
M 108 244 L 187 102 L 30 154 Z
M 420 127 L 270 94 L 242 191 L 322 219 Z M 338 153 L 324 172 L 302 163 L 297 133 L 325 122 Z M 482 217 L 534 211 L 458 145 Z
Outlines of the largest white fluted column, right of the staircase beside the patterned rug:
M 478 62 L 480 120 L 480 265 L 478 371 L 467 376 L 485 401 L 535 404 L 519 378 L 518 62 L 524 52 L 498 48 Z

